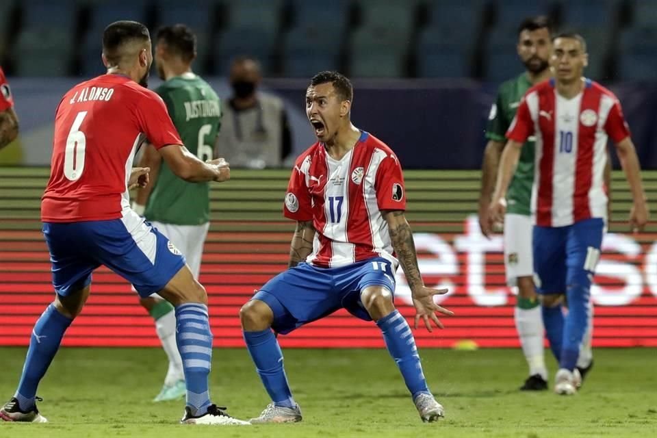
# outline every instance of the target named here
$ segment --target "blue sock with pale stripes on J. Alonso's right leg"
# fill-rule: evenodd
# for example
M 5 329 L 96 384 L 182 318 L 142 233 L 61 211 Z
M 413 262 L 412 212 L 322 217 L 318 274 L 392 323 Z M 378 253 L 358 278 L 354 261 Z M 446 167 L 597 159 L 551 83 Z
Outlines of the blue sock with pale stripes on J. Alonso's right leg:
M 183 359 L 183 372 L 187 385 L 187 406 L 192 415 L 207 412 L 210 405 L 207 376 L 212 361 L 212 333 L 207 306 L 186 303 L 176 307 L 176 342 Z

